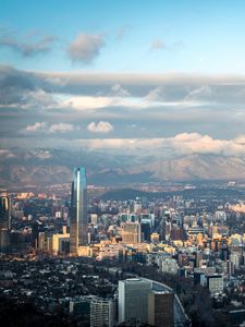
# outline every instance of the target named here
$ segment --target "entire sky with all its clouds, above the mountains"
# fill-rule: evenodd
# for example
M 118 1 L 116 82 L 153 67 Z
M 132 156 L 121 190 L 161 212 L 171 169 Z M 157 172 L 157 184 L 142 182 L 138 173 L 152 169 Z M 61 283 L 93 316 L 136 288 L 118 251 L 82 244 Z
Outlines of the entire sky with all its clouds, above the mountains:
M 244 156 L 244 31 L 242 0 L 1 0 L 0 148 Z

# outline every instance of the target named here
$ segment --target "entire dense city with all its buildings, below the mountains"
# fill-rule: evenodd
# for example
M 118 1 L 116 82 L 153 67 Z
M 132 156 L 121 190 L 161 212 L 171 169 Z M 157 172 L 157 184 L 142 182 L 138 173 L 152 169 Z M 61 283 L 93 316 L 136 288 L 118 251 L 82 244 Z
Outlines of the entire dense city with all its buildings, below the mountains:
M 60 186 L 59 196 L 53 189 L 1 194 L 3 320 L 30 314 L 40 326 L 241 326 L 242 183 L 183 184 L 151 198 L 130 198 L 143 193 L 136 190 L 99 198 L 93 189 L 81 167 L 69 195 Z M 113 199 L 125 193 L 128 199 Z

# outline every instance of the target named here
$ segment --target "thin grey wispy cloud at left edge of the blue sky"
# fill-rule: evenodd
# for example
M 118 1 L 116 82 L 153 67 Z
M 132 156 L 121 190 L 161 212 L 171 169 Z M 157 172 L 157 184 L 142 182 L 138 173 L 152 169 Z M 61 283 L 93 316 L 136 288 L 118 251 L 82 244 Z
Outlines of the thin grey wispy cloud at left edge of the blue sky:
M 2 31 L 0 35 L 0 46 L 9 48 L 24 57 L 32 57 L 38 53 L 45 53 L 51 50 L 52 44 L 57 40 L 54 36 L 37 37 L 33 35 L 17 37 L 16 33 Z

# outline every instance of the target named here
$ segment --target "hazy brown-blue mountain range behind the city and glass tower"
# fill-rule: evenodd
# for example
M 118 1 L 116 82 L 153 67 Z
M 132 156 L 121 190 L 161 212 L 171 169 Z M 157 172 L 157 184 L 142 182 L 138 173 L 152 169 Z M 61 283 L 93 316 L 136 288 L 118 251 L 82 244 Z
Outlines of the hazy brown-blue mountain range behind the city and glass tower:
M 87 167 L 89 184 L 108 186 L 156 181 L 245 179 L 245 158 L 240 157 L 194 154 L 159 159 L 89 150 L 14 148 L 0 153 L 0 187 L 69 183 L 75 166 Z

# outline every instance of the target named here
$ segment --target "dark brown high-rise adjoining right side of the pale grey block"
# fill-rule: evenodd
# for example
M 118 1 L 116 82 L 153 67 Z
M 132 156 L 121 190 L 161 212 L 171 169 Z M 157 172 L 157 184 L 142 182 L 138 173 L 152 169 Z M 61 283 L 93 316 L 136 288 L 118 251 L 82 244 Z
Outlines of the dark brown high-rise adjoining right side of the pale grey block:
M 151 291 L 148 295 L 148 324 L 156 327 L 173 327 L 173 293 Z

